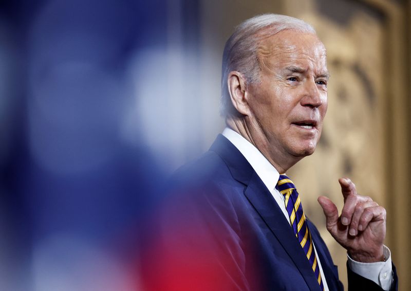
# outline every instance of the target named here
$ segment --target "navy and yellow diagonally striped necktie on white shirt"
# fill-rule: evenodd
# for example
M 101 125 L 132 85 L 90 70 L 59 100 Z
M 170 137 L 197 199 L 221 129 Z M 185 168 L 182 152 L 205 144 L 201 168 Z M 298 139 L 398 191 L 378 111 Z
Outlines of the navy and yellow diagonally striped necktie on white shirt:
M 304 249 L 321 289 L 324 290 L 323 281 L 321 280 L 320 267 L 317 264 L 317 258 L 315 256 L 315 250 L 311 240 L 311 233 L 308 230 L 307 223 L 305 221 L 300 195 L 298 195 L 297 189 L 295 189 L 294 184 L 286 175 L 279 175 L 276 188 L 285 197 L 286 209 L 290 217 L 290 224 L 294 230 L 295 237 Z

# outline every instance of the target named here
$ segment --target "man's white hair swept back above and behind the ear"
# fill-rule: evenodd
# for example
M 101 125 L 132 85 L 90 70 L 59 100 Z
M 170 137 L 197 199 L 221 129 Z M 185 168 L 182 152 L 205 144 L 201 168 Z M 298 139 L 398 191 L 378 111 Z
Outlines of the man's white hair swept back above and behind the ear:
M 223 117 L 238 115 L 228 92 L 230 72 L 240 72 L 246 78 L 246 84 L 258 82 L 261 69 L 257 55 L 259 42 L 286 29 L 316 34 L 311 25 L 300 19 L 271 13 L 254 16 L 235 28 L 222 55 L 220 113 Z

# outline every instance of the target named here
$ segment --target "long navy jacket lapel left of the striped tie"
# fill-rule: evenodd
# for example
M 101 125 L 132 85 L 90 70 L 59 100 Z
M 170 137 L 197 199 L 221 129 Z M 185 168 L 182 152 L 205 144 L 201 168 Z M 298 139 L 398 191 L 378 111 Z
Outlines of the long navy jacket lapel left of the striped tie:
M 210 150 L 215 151 L 226 162 L 236 180 L 246 185 L 244 194 L 248 201 L 286 250 L 310 290 L 319 290 L 320 285 L 316 281 L 303 248 L 295 239 L 295 234 L 283 212 L 247 159 L 222 135 L 217 137 Z

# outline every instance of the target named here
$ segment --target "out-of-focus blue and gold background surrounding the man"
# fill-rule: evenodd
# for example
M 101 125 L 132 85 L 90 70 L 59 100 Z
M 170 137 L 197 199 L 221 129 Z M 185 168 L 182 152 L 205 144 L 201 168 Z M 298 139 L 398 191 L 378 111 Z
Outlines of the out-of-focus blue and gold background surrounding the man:
M 411 289 L 411 1 L 3 0 L 1 290 L 142 290 L 159 181 L 223 129 L 223 45 L 267 12 L 311 23 L 328 51 L 322 140 L 289 172 L 307 215 L 345 282 L 315 197 L 341 207 L 337 179 L 351 177 L 386 207 L 386 244 Z

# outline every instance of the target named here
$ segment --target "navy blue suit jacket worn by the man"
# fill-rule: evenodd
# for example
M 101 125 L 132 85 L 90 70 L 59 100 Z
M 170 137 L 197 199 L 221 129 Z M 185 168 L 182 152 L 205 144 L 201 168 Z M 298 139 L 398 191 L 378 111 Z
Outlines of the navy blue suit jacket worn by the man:
M 145 264 L 148 289 L 320 290 L 283 212 L 225 137 L 180 168 L 172 189 L 157 216 L 155 258 Z M 320 233 L 308 227 L 329 289 L 343 290 Z M 348 277 L 350 290 L 381 290 L 350 270 Z

